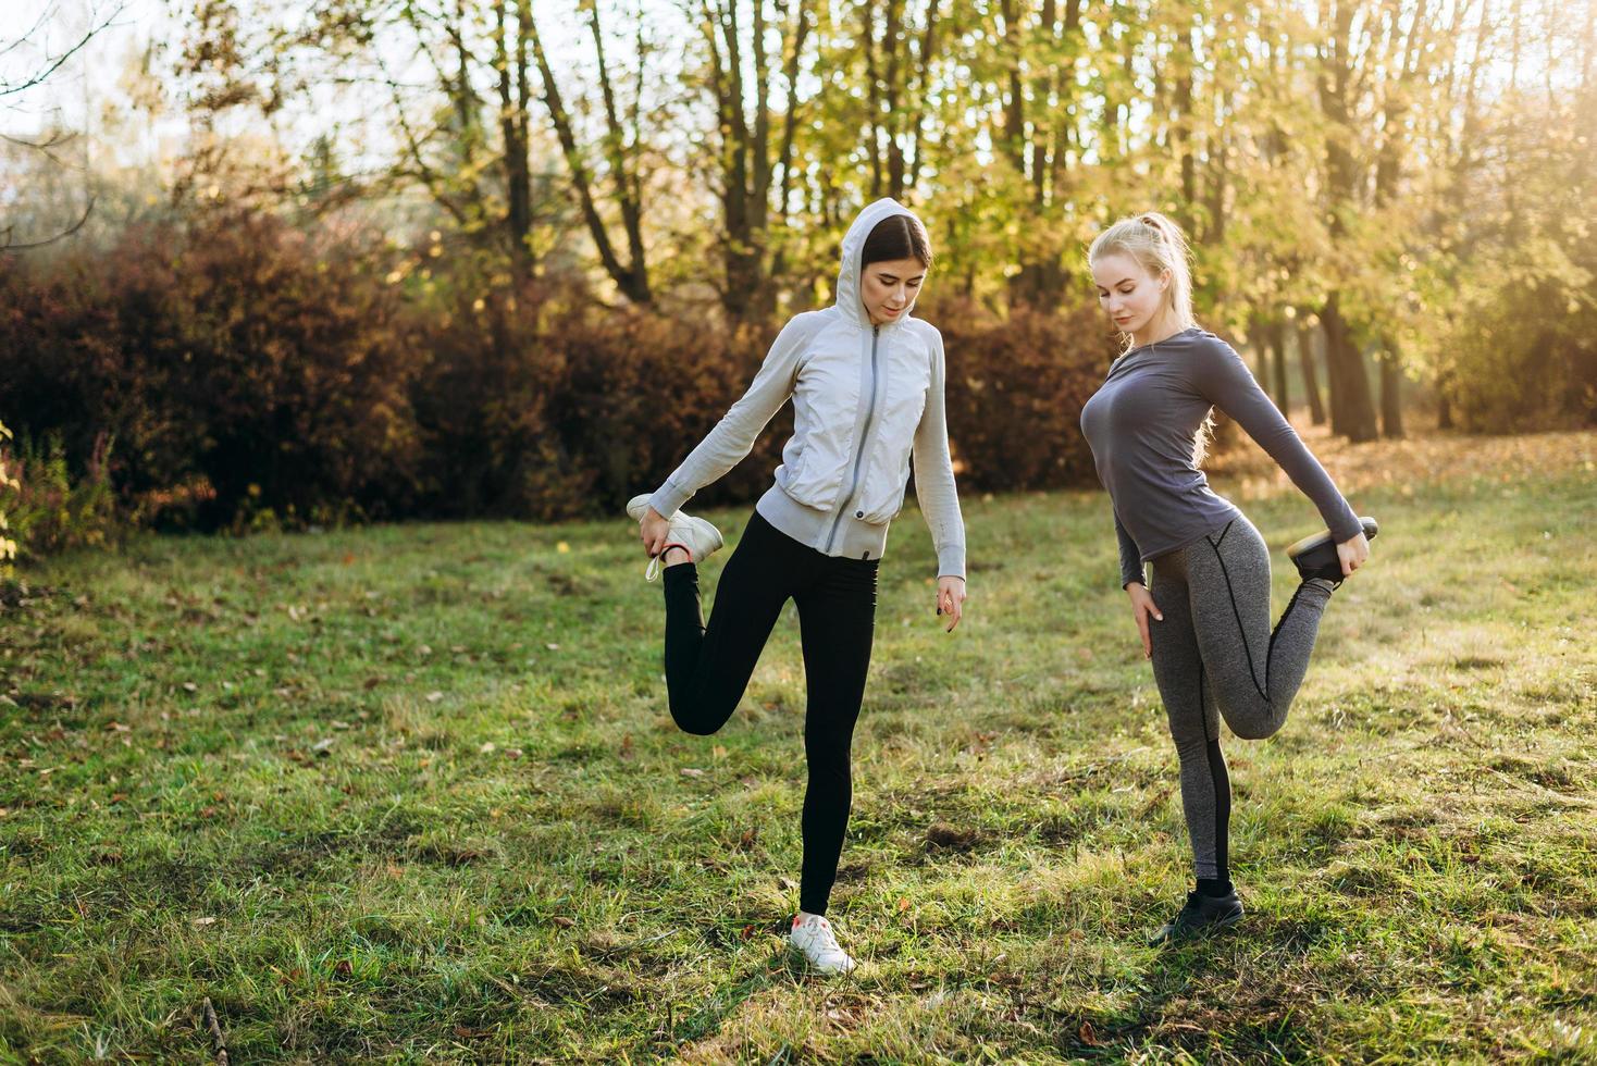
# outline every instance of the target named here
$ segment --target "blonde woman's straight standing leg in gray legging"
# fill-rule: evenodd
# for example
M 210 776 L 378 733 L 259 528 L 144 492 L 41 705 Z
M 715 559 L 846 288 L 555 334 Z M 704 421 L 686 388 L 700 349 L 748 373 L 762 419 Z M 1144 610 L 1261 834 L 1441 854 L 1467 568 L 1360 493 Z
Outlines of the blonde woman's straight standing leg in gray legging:
M 1223 895 L 1231 890 L 1231 779 L 1220 755 L 1220 715 L 1193 629 L 1183 555 L 1174 552 L 1153 562 L 1148 590 L 1164 614 L 1163 622 L 1148 626 L 1153 680 L 1159 686 L 1180 760 L 1182 812 L 1191 838 L 1198 887 Z

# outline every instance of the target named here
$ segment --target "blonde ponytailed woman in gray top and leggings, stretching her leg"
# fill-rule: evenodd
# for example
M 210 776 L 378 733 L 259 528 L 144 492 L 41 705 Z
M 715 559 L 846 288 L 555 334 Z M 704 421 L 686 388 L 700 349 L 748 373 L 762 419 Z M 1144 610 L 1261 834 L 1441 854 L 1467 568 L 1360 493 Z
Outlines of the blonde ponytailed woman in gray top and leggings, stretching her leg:
M 1116 222 L 1088 252 L 1099 303 L 1131 343 L 1081 409 L 1081 429 L 1115 507 L 1121 587 L 1175 737 L 1198 875 L 1155 943 L 1241 919 L 1220 718 L 1242 739 L 1286 723 L 1330 594 L 1375 536 L 1236 351 L 1196 326 L 1187 255 L 1175 223 L 1151 212 Z M 1281 464 L 1329 527 L 1289 549 L 1303 582 L 1273 630 L 1265 541 L 1198 469 L 1214 409 Z

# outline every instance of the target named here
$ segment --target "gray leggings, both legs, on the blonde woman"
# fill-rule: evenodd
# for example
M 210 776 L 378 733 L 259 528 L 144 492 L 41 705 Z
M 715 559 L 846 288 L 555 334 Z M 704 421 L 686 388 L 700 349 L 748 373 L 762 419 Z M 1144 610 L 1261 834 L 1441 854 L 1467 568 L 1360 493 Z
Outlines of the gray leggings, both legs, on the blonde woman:
M 1220 718 L 1244 740 L 1287 720 L 1332 586 L 1306 581 L 1270 630 L 1270 551 L 1247 519 L 1153 560 L 1153 680 L 1182 764 L 1182 807 L 1199 878 L 1230 878 L 1231 780 Z

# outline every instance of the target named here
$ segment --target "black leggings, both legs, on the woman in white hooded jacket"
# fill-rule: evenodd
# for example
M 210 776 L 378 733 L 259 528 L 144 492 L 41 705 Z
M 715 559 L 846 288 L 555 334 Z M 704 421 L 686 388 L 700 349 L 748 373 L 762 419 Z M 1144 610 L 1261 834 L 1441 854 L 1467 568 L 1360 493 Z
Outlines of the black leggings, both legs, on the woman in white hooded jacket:
M 776 530 L 759 512 L 727 560 L 709 627 L 699 613 L 698 568 L 666 567 L 666 686 L 671 717 L 709 736 L 743 699 L 783 605 L 798 605 L 808 688 L 803 747 L 803 873 L 798 908 L 826 914 L 853 801 L 850 745 L 870 669 L 877 560 L 835 559 Z

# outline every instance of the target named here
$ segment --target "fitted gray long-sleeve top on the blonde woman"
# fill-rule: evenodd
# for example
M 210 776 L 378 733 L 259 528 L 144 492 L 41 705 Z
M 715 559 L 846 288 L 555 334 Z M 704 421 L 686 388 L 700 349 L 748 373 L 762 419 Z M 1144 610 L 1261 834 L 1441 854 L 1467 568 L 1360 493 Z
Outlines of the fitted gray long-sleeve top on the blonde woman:
M 1215 407 L 1242 426 L 1306 495 L 1338 543 L 1362 528 L 1326 468 L 1228 343 L 1198 327 L 1132 348 L 1081 409 L 1081 431 L 1115 507 L 1121 586 L 1241 511 L 1193 464 L 1193 436 Z

